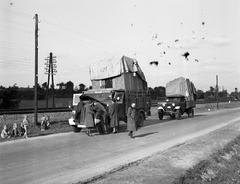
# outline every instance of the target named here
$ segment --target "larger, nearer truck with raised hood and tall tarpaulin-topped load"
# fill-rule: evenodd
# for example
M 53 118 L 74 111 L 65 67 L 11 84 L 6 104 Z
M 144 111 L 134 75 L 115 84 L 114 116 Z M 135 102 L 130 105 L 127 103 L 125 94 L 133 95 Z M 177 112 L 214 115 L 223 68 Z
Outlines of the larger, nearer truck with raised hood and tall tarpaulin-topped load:
M 107 111 L 112 99 L 116 99 L 119 121 L 127 122 L 128 107 L 135 103 L 137 126 L 144 125 L 144 120 L 151 115 L 151 98 L 145 75 L 135 58 L 115 56 L 100 60 L 90 64 L 89 73 L 92 89 L 84 91 L 81 95 L 75 94 L 73 107 L 76 107 L 80 96 L 84 103 L 89 100 L 96 101 Z M 77 132 L 85 127 L 84 118 L 81 118 L 80 124 L 71 118 L 69 124 Z

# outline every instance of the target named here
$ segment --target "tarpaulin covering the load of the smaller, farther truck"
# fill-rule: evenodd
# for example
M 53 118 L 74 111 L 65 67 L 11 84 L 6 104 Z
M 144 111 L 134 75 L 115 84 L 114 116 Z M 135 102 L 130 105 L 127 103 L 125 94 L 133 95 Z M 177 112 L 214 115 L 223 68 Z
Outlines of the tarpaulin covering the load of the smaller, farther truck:
M 190 97 L 196 94 L 196 89 L 189 79 L 179 77 L 170 81 L 166 85 L 166 96 L 185 96 Z

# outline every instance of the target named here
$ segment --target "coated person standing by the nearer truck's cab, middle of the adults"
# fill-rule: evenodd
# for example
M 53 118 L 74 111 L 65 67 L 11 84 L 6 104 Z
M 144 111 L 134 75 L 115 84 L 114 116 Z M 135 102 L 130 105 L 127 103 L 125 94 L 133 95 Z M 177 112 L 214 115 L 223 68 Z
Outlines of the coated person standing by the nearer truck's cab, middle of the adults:
M 116 99 L 112 99 L 112 103 L 108 106 L 108 114 L 110 117 L 110 127 L 113 128 L 112 133 L 117 133 L 119 119 L 118 119 L 118 104 L 116 103 Z

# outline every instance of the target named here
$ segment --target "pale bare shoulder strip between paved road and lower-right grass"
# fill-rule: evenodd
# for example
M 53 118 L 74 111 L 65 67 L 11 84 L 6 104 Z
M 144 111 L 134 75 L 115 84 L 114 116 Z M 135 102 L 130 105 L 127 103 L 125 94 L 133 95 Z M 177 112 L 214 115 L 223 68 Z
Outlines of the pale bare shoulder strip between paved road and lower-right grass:
M 93 183 L 172 183 L 240 134 L 240 121 L 94 178 Z M 116 172 L 117 171 L 117 172 Z M 92 178 L 93 179 L 93 178 Z M 89 182 L 88 180 L 87 182 Z M 84 182 L 81 182 L 84 183 Z

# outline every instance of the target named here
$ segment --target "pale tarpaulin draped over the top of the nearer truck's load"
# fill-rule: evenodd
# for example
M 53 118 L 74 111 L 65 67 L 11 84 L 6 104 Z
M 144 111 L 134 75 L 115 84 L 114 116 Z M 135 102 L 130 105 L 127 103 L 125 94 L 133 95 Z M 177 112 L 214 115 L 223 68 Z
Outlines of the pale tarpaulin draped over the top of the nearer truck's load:
M 107 79 L 119 76 L 122 73 L 136 72 L 142 80 L 146 81 L 137 60 L 126 56 L 112 57 L 92 63 L 89 72 L 91 80 Z

